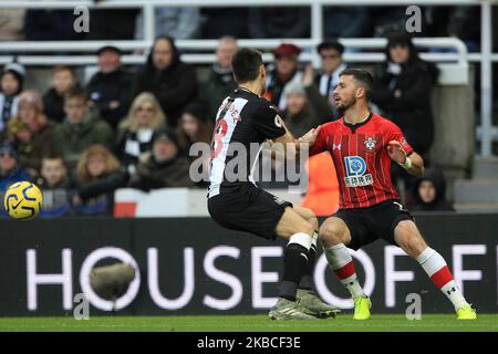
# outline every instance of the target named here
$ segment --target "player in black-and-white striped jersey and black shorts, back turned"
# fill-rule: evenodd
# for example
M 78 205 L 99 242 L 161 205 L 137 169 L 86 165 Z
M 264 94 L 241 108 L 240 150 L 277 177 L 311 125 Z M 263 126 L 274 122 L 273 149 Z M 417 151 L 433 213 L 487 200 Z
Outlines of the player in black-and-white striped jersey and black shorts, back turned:
M 251 232 L 266 239 L 288 240 L 279 299 L 269 312 L 272 320 L 313 320 L 335 316 L 338 308 L 321 301 L 312 291 L 317 257 L 318 220 L 313 211 L 292 206 L 259 188 L 252 177 L 259 149 L 271 139 L 284 144 L 294 156 L 301 142 L 283 125 L 276 108 L 264 98 L 266 69 L 261 53 L 239 50 L 231 60 L 238 88 L 218 110 L 211 142 L 208 210 L 220 226 Z M 314 138 L 311 129 L 307 138 Z M 305 144 L 304 144 L 305 145 Z M 240 156 L 242 163 L 234 164 Z

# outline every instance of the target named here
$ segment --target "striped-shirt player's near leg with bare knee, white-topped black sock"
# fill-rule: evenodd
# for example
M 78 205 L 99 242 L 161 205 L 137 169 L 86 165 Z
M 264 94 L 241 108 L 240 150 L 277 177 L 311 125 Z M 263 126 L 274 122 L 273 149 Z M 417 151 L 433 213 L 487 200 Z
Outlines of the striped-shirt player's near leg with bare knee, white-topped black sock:
M 276 227 L 279 237 L 289 240 L 283 254 L 283 275 L 279 300 L 270 310 L 272 320 L 313 320 L 297 302 L 301 278 L 308 269 L 308 253 L 314 227 L 294 209 L 287 207 Z

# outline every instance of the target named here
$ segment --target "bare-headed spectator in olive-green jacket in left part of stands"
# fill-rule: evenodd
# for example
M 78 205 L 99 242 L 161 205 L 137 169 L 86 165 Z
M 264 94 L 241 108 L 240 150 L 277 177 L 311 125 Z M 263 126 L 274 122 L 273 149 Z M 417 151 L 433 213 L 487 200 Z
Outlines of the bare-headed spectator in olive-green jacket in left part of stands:
M 53 150 L 73 169 L 86 148 L 93 144 L 111 146 L 114 135 L 107 123 L 90 112 L 89 98 L 81 88 L 65 94 L 64 111 L 66 118 L 53 132 Z

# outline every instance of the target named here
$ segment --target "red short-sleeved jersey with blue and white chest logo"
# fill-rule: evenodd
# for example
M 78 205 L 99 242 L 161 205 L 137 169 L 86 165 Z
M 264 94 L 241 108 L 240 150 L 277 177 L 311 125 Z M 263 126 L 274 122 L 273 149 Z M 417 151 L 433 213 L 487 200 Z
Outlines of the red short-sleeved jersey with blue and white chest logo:
M 413 148 L 391 121 L 370 114 L 366 121 L 351 125 L 340 118 L 322 125 L 310 155 L 329 152 L 340 185 L 341 209 L 365 208 L 388 199 L 400 199 L 391 180 L 391 140 L 397 140 L 407 155 Z

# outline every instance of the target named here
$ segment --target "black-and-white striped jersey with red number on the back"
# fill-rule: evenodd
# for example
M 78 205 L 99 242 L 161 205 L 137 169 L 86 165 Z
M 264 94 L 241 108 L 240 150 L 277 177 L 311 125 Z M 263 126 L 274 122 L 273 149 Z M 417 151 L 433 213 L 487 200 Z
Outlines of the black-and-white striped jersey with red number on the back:
M 217 117 L 211 140 L 209 197 L 224 192 L 224 187 L 235 184 L 256 185 L 252 170 L 262 143 L 286 134 L 277 110 L 267 100 L 246 88 L 237 88 L 225 98 Z M 258 147 L 256 152 L 255 145 Z M 230 160 L 240 156 L 241 148 L 246 150 L 246 164 L 240 166 L 234 163 L 232 165 L 236 165 L 234 170 Z M 234 175 L 237 176 L 237 180 L 234 180 Z

